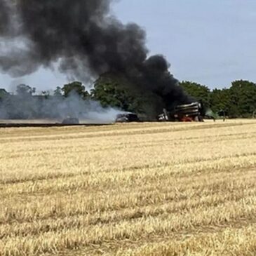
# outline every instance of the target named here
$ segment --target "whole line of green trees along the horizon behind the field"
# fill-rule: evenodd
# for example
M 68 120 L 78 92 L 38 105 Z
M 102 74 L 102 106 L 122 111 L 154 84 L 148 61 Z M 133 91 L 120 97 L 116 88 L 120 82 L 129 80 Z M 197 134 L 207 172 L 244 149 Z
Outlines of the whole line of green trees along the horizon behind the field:
M 75 92 L 83 100 L 91 99 L 100 102 L 102 107 L 116 107 L 127 112 L 140 114 L 157 114 L 153 111 L 154 104 L 152 102 L 156 102 L 154 95 L 140 90 L 130 90 L 128 83 L 122 77 L 105 75 L 100 76 L 91 89 L 87 89 L 79 81 L 74 81 L 62 87 L 58 86 L 53 92 L 43 91 L 41 93 L 36 93 L 35 88 L 20 84 L 16 88 L 15 95 L 0 89 L 0 109 L 1 104 L 8 102 L 11 97 L 17 97 L 15 99 L 15 102 L 17 102 L 19 98 L 24 97 L 27 100 L 29 100 L 29 97 L 43 97 L 46 99 L 49 97 L 69 97 L 71 93 Z M 180 86 L 191 97 L 191 101 L 201 102 L 205 115 L 226 115 L 230 118 L 256 116 L 256 84 L 251 81 L 233 81 L 229 88 L 216 88 L 214 90 L 191 81 L 182 81 Z

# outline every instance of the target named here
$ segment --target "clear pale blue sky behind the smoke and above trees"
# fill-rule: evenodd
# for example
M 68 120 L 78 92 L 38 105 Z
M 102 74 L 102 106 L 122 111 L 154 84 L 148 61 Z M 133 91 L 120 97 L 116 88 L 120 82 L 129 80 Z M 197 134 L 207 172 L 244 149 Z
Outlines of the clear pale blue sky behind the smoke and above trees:
M 237 79 L 256 82 L 255 0 L 116 0 L 112 12 L 147 31 L 150 54 L 166 56 L 180 81 L 212 89 Z M 0 87 L 8 90 L 19 83 L 49 90 L 67 82 L 65 74 L 43 68 L 19 79 L 0 73 Z

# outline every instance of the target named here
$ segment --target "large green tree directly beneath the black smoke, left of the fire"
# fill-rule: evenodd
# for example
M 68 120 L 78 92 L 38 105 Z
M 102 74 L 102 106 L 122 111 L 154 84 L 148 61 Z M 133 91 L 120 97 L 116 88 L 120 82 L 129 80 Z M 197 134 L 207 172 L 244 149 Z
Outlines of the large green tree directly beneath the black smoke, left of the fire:
M 122 74 L 102 74 L 94 83 L 91 97 L 103 107 L 111 106 L 135 112 L 143 120 L 156 119 L 163 110 L 162 100 L 158 95 L 142 90 Z

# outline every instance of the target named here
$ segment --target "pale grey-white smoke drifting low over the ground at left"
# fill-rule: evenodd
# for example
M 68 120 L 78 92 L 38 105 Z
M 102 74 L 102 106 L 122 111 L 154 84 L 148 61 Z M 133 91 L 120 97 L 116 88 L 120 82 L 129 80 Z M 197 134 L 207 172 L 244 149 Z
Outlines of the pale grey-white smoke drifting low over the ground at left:
M 93 123 L 113 123 L 120 109 L 103 108 L 93 100 L 83 100 L 76 93 L 62 95 L 32 96 L 30 94 L 6 95 L 1 100 L 0 119 L 56 119 L 68 117 Z

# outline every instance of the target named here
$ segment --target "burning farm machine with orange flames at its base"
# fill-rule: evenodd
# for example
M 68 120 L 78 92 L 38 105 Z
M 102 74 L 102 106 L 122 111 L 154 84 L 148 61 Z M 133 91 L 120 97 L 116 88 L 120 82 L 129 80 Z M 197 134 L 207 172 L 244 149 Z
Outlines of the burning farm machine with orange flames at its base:
M 163 114 L 159 115 L 159 121 L 203 122 L 201 109 L 202 106 L 199 102 L 177 105 L 172 114 L 163 109 Z

